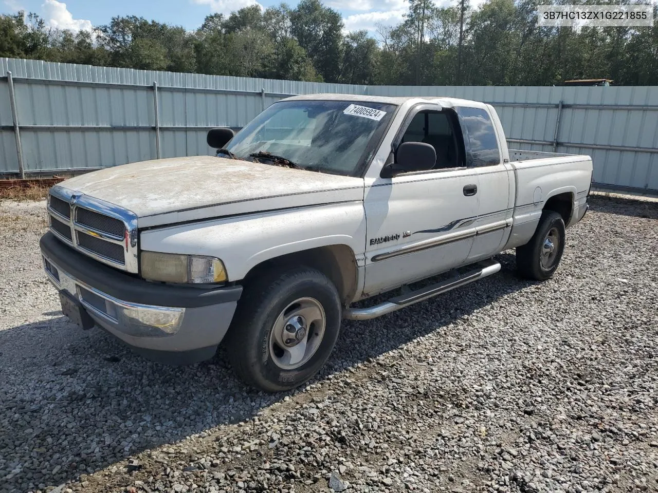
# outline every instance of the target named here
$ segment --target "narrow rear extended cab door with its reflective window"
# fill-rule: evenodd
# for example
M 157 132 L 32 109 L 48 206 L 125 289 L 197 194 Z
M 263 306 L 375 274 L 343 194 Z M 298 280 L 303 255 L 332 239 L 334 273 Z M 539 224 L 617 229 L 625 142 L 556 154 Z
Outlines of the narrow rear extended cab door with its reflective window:
M 507 143 L 499 121 L 493 118 L 497 116 L 495 110 L 482 106 L 455 107 L 464 135 L 466 164 L 478 172 L 480 211 L 468 263 L 500 252 L 509 238 L 514 213 L 515 179 L 505 159 Z

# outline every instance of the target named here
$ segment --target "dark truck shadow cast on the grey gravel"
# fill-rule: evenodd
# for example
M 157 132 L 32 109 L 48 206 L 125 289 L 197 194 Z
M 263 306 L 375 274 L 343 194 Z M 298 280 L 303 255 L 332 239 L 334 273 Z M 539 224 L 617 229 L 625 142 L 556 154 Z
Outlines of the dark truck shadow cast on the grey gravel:
M 332 356 L 311 383 L 445 329 L 534 284 L 515 277 L 513 254 L 497 260 L 501 273 L 468 287 L 379 319 L 343 321 Z M 0 479 L 5 476 L 0 482 L 16 490 L 74 481 L 144 450 L 243 421 L 305 392 L 271 395 L 245 387 L 221 349 L 209 362 L 169 367 L 144 360 L 99 329 L 70 337 L 77 330 L 58 317 L 0 331 L 0 348 L 22 348 L 22 356 L 34 362 L 34 374 L 16 375 L 0 356 L 0 374 L 10 375 L 0 383 L 8 396 L 0 407 L 0 450 L 9 452 L 5 463 L 0 460 Z M 44 333 L 52 337 L 53 331 L 68 338 L 59 340 L 61 350 L 43 342 Z

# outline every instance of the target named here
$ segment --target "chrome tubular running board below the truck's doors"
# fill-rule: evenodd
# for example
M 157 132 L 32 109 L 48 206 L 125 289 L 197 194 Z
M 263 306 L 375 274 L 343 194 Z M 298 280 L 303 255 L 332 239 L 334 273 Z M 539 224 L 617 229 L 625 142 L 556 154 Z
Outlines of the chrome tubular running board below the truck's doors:
M 479 267 L 476 270 L 468 271 L 456 278 L 446 279 L 445 281 L 440 281 L 422 289 L 417 289 L 411 293 L 395 296 L 395 298 L 391 298 L 375 306 L 370 306 L 370 308 L 347 308 L 347 310 L 343 311 L 343 318 L 350 320 L 369 320 L 371 318 L 381 317 L 382 315 L 395 312 L 395 310 L 400 310 L 428 298 L 438 296 L 438 294 L 447 293 L 451 289 L 467 285 L 468 283 L 482 279 L 482 277 L 495 274 L 500 270 L 500 264 L 493 260 L 485 260 L 475 265 Z

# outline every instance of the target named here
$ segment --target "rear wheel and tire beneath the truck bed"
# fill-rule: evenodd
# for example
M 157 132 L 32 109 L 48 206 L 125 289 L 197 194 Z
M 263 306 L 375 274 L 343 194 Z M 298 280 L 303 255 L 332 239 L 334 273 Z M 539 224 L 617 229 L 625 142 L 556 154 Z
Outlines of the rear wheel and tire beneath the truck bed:
M 557 270 L 565 251 L 565 222 L 553 210 L 544 210 L 532 238 L 517 247 L 517 271 L 521 277 L 545 281 Z

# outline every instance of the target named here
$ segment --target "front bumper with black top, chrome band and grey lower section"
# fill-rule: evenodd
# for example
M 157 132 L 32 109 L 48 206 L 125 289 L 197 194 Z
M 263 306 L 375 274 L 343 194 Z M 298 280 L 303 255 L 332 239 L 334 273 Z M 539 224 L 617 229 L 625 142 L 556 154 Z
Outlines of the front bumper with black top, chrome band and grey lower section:
M 58 291 L 80 301 L 93 321 L 151 360 L 190 364 L 212 358 L 242 288 L 149 283 L 66 247 L 52 233 L 39 242 Z

